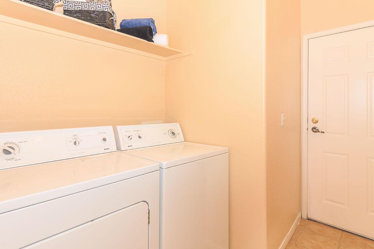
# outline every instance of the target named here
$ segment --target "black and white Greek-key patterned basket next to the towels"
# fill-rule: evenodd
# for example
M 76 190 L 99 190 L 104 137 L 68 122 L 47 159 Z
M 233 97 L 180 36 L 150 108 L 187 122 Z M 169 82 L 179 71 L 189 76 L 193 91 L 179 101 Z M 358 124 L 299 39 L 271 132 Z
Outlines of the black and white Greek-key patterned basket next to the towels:
M 116 13 L 110 0 L 64 0 L 64 15 L 116 30 Z

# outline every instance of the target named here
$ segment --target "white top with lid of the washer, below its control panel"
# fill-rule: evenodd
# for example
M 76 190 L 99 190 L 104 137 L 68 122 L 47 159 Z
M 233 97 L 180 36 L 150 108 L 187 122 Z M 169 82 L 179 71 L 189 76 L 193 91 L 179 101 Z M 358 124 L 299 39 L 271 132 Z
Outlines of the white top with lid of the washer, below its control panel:
M 227 152 L 226 147 L 181 142 L 127 150 L 125 153 L 159 162 L 160 168 L 166 169 Z

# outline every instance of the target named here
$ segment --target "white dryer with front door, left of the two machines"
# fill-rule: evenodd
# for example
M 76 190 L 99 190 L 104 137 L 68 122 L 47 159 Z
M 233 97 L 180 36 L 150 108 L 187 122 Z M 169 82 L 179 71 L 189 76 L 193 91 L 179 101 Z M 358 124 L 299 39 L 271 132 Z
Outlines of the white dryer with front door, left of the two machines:
M 159 165 L 113 127 L 0 134 L 0 248 L 157 249 Z

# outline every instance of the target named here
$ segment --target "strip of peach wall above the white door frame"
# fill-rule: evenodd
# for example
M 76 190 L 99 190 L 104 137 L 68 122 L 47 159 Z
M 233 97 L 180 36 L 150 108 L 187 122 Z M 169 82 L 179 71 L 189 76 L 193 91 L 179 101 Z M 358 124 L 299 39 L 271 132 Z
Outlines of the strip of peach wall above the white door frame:
M 374 19 L 373 0 L 301 0 L 301 34 Z

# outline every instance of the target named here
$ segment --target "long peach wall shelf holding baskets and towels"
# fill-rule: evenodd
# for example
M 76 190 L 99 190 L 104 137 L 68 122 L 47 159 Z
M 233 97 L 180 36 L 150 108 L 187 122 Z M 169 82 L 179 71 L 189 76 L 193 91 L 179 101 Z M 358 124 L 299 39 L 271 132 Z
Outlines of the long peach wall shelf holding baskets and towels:
M 154 55 L 157 59 L 168 60 L 168 57 L 175 58 L 186 55 L 177 49 L 102 28 L 19 0 L 0 0 L 0 15 L 137 50 L 141 52 L 140 54 L 146 53 L 151 57 Z

